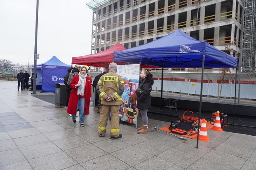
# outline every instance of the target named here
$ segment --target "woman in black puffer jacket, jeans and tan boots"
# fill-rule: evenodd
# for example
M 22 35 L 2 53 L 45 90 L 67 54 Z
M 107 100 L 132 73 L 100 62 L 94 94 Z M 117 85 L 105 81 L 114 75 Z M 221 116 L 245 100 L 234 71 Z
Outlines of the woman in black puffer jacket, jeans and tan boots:
M 141 82 L 136 89 L 137 108 L 140 110 L 143 125 L 138 128 L 138 134 L 148 133 L 148 116 L 147 112 L 151 105 L 150 92 L 154 83 L 152 74 L 146 70 L 140 73 Z

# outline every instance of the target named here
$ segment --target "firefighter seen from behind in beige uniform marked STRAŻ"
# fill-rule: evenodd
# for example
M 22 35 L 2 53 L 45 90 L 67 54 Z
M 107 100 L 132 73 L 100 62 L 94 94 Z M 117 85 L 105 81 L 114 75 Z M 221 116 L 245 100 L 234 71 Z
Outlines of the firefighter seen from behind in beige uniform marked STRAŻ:
M 125 90 L 123 78 L 116 74 L 116 63 L 109 64 L 109 73 L 99 79 L 96 90 L 101 98 L 101 113 L 99 118 L 99 136 L 104 137 L 108 122 L 108 115 L 111 112 L 110 138 L 121 138 L 119 133 L 119 109 L 123 103 L 121 95 Z

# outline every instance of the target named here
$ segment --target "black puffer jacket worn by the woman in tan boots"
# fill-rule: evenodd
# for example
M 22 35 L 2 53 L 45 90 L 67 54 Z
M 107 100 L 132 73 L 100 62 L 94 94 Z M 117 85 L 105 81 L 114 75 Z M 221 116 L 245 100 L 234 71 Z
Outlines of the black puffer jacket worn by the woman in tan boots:
M 137 101 L 137 108 L 138 109 L 148 109 L 151 105 L 151 97 L 150 92 L 152 90 L 152 85 L 154 84 L 153 76 L 150 74 L 149 76 L 145 77 L 141 80 L 141 83 L 138 88 L 142 90 L 142 94 L 137 94 L 138 101 Z M 140 97 L 139 97 L 140 95 Z

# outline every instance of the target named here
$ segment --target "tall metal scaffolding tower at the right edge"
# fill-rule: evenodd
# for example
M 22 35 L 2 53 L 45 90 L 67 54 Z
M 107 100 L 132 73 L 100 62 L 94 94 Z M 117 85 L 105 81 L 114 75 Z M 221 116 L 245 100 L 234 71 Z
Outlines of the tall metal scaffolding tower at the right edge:
M 256 0 L 244 1 L 243 72 L 256 73 Z

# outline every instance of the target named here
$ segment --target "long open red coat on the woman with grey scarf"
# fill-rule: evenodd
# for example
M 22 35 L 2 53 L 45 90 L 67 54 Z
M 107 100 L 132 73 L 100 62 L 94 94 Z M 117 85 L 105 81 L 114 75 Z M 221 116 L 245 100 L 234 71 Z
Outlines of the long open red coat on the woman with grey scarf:
M 85 102 L 84 102 L 84 113 L 86 115 L 89 114 L 89 105 L 90 105 L 90 99 L 91 99 L 91 78 L 87 77 L 86 78 L 86 83 L 84 86 L 84 96 L 77 95 L 77 88 L 75 88 L 75 85 L 78 83 L 79 80 L 79 75 L 75 75 L 73 79 L 71 80 L 69 86 L 72 88 L 70 92 L 70 97 L 69 97 L 69 104 L 67 107 L 67 113 L 75 115 L 76 114 L 76 108 L 77 108 L 77 102 L 79 97 L 85 97 Z

